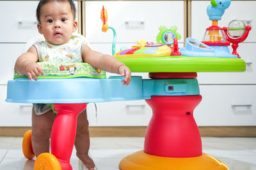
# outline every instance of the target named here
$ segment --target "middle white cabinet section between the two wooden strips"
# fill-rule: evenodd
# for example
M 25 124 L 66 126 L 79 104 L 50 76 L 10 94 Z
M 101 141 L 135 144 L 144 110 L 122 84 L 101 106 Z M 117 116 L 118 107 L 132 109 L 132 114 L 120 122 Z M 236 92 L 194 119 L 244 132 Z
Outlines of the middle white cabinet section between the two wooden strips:
M 184 1 L 86 1 L 85 34 L 93 50 L 112 55 L 113 31 L 102 32 L 100 11 L 108 11 L 108 25 L 116 30 L 116 52 L 120 48 L 136 45 L 137 41 L 156 41 L 159 27 L 177 26 L 181 35 L 179 46 L 184 43 Z M 175 17 L 174 17 L 175 16 Z M 115 74 L 108 73 L 107 76 Z M 148 73 L 132 73 L 132 76 L 148 78 Z M 97 121 L 93 104 L 88 106 L 90 125 L 133 126 L 148 125 L 152 115 L 144 101 L 116 101 L 96 103 Z M 91 115 L 91 112 L 93 115 Z

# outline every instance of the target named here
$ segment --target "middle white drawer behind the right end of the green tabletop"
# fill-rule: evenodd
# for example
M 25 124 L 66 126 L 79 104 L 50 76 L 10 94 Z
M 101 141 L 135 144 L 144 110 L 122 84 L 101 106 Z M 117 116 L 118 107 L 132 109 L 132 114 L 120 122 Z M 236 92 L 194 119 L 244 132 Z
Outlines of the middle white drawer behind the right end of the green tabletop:
M 198 73 L 200 84 L 256 84 L 256 43 L 241 43 L 237 52 L 246 62 L 242 73 Z M 232 52 L 232 50 L 230 50 Z

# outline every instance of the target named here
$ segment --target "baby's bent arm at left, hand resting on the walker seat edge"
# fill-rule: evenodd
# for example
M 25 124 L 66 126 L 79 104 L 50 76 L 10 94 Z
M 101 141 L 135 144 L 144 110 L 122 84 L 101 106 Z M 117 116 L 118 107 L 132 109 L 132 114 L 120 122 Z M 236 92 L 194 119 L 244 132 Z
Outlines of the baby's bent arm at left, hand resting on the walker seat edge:
M 37 80 L 37 76 L 44 75 L 42 68 L 36 63 L 38 61 L 38 54 L 35 46 L 31 46 L 28 52 L 23 53 L 16 60 L 15 68 L 20 74 L 26 74 L 30 81 L 32 78 Z

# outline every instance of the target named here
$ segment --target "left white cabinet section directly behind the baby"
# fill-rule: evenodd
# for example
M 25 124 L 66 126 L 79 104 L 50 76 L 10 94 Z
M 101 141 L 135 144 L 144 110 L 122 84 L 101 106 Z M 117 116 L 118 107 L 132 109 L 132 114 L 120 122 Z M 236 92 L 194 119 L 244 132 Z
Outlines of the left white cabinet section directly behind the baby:
M 74 2 L 77 7 L 77 2 Z M 0 1 L 0 126 L 31 126 L 32 104 L 6 103 L 6 85 L 26 42 L 39 35 L 38 1 Z

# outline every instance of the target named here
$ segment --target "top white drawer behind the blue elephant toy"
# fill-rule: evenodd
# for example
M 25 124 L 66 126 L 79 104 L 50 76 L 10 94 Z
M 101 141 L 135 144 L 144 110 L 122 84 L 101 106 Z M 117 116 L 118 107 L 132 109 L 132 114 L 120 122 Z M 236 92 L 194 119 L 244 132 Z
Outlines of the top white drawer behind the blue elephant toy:
M 210 1 L 192 1 L 191 33 L 192 37 L 202 41 L 205 29 L 212 25 L 206 13 Z M 220 27 L 227 27 L 232 20 L 244 20 L 246 25 L 256 27 L 256 1 L 231 1 L 230 6 L 218 22 Z M 256 30 L 252 29 L 244 42 L 256 42 Z

